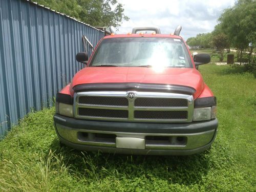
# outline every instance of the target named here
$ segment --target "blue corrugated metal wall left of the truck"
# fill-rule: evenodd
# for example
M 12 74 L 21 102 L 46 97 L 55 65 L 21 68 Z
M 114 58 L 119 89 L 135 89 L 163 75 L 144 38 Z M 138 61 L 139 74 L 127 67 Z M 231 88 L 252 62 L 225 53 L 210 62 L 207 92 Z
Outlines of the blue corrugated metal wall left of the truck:
M 52 105 L 83 67 L 75 60 L 82 35 L 96 46 L 104 32 L 28 1 L 0 0 L 0 137 L 28 112 Z

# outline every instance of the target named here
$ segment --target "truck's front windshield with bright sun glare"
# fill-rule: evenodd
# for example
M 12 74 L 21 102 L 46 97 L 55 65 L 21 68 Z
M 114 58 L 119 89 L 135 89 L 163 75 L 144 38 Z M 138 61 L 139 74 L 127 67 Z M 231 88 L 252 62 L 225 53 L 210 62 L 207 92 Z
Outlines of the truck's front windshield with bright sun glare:
M 103 39 L 90 66 L 192 68 L 192 63 L 181 39 L 132 37 Z

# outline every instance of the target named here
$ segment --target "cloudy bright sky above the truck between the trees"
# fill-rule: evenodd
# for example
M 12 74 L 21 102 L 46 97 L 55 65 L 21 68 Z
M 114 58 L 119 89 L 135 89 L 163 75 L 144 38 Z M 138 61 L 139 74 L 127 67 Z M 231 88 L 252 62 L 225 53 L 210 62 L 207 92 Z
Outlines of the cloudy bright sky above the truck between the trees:
M 173 33 L 182 26 L 180 35 L 186 40 L 198 33 L 214 30 L 223 9 L 232 7 L 236 0 L 119 0 L 124 14 L 130 17 L 123 21 L 117 33 L 132 32 L 133 27 L 155 26 L 161 33 Z

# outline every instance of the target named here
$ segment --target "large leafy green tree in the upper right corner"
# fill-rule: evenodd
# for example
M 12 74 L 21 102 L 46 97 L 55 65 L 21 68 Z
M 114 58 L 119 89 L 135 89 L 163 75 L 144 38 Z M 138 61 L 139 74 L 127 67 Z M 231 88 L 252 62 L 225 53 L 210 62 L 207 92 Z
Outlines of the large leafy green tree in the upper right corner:
M 256 40 L 256 1 L 239 0 L 232 8 L 225 9 L 219 18 L 220 30 L 228 35 L 232 46 L 239 51 L 238 57 L 250 46 L 250 54 Z

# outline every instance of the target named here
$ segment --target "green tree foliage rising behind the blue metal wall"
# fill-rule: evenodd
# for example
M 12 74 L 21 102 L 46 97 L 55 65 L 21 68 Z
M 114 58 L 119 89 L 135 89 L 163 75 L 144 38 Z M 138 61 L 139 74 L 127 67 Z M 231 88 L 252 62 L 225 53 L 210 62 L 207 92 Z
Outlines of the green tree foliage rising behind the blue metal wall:
M 122 20 L 129 20 L 123 14 L 123 5 L 117 0 L 33 0 L 41 5 L 75 17 L 95 27 L 118 27 Z

